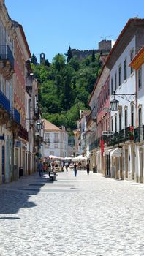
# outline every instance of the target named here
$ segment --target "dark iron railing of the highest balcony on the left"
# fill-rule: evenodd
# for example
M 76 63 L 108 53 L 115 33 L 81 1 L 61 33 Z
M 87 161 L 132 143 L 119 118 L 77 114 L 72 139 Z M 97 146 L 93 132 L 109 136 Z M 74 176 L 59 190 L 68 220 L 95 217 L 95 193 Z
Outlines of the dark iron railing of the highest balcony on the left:
M 0 59 L 10 61 L 12 69 L 14 69 L 14 57 L 9 45 L 0 45 Z

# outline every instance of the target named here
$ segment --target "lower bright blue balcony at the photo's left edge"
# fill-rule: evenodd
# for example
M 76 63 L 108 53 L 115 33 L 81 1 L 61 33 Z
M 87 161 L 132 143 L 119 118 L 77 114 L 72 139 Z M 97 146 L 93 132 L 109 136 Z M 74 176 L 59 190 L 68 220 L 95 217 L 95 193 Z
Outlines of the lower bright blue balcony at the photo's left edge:
M 7 124 L 10 118 L 10 101 L 0 91 L 0 124 Z

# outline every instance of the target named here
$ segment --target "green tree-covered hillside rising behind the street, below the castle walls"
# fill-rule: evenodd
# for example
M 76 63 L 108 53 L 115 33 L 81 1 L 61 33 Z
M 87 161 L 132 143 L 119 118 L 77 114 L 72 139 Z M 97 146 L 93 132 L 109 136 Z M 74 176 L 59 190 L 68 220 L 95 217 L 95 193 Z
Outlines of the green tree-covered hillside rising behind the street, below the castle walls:
M 39 82 L 39 104 L 42 118 L 69 132 L 77 128 L 80 110 L 88 109 L 88 97 L 99 75 L 99 56 L 92 53 L 82 61 L 72 56 L 69 47 L 67 57 L 57 54 L 52 63 L 38 64 L 32 56 L 31 66 Z

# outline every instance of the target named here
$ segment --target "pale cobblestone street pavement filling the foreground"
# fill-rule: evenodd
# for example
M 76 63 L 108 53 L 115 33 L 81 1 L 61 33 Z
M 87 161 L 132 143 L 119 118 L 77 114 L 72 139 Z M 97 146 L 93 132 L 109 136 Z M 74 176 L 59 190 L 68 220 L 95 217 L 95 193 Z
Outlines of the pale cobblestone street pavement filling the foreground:
M 1 256 L 144 255 L 144 185 L 38 173 L 0 187 Z

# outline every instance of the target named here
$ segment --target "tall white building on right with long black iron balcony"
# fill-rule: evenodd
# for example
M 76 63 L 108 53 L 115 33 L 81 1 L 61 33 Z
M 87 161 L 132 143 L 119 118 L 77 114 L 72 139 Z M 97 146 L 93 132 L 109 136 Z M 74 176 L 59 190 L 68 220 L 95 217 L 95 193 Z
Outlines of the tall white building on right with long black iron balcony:
M 115 96 L 119 101 L 118 110 L 111 111 L 113 136 L 107 141 L 109 148 L 105 154 L 110 154 L 111 176 L 135 181 L 138 178 L 134 128 L 137 128 L 138 114 L 142 116 L 142 112 L 137 110 L 136 72 L 134 72 L 133 66 L 129 67 L 129 63 L 143 44 L 144 19 L 130 19 L 121 31 L 105 62 L 106 67 L 110 69 L 110 101 L 113 99 L 114 91 L 115 94 L 119 94 L 119 97 Z M 129 94 L 135 95 L 131 97 Z M 142 97 L 142 91 L 139 97 Z M 139 108 L 141 111 L 140 105 Z M 110 151 L 112 147 L 113 151 Z

